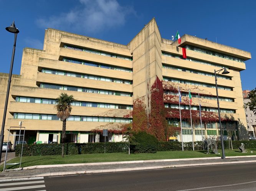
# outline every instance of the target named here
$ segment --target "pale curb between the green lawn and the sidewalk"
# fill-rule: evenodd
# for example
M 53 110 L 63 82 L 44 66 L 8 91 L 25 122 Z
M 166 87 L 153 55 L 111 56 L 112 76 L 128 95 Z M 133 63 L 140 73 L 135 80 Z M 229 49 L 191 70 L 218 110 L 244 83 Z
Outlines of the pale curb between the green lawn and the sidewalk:
M 244 157 L 256 157 L 256 155 L 248 156 L 231 156 L 226 159 L 232 158 L 244 158 Z M 221 159 L 221 157 L 201 157 L 201 158 L 188 158 L 188 159 L 160 159 L 160 160 L 131 160 L 131 161 L 119 161 L 119 162 L 93 162 L 93 163 L 74 163 L 74 164 L 60 164 L 60 165 L 35 165 L 31 167 L 23 167 L 22 170 L 29 170 L 33 168 L 51 168 L 51 167 L 76 167 L 76 166 L 92 166 L 92 165 L 113 165 L 113 164 L 129 164 L 129 163 L 146 163 L 146 162 L 171 162 L 171 161 L 184 161 L 184 160 L 207 160 L 207 159 Z M 18 170 L 15 168 L 13 170 Z

